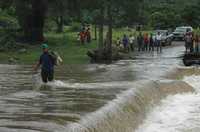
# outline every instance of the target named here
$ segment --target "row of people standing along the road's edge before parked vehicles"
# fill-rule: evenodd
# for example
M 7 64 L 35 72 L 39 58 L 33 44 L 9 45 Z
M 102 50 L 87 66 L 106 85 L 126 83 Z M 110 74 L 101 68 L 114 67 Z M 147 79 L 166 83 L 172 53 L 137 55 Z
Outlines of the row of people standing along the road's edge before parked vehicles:
M 153 33 L 139 33 L 138 36 L 130 35 L 129 37 L 125 34 L 122 39 L 117 38 L 117 47 L 121 47 L 125 52 L 135 51 L 137 48 L 138 52 L 141 51 L 154 51 L 157 48 L 158 52 L 162 52 L 162 35 L 158 32 L 156 35 Z

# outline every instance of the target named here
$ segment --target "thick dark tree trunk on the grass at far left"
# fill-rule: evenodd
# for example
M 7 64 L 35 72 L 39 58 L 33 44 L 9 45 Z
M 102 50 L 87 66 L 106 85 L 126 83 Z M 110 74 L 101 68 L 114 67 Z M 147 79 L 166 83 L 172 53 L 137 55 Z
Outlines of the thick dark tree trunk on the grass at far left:
M 47 0 L 19 0 L 16 2 L 16 14 L 26 40 L 40 42 L 44 40 L 43 28 L 46 10 Z

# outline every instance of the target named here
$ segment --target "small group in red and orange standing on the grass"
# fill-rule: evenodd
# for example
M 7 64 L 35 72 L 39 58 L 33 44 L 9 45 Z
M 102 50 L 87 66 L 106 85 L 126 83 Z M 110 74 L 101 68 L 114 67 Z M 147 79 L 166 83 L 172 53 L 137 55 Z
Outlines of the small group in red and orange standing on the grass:
M 84 45 L 86 42 L 91 42 L 91 32 L 90 27 L 83 27 L 82 30 L 78 33 L 78 40 L 82 45 Z

